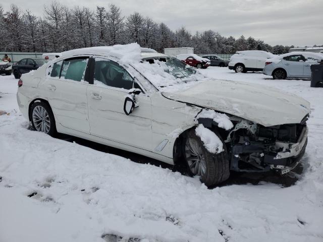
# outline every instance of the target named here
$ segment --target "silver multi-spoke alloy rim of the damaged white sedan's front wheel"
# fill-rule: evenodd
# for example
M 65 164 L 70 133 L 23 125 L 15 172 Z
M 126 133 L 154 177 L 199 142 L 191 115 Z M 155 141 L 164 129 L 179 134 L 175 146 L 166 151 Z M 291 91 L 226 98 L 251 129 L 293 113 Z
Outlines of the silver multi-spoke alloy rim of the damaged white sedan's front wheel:
M 204 175 L 206 161 L 202 147 L 195 139 L 187 139 L 185 144 L 185 156 L 191 172 L 195 175 Z

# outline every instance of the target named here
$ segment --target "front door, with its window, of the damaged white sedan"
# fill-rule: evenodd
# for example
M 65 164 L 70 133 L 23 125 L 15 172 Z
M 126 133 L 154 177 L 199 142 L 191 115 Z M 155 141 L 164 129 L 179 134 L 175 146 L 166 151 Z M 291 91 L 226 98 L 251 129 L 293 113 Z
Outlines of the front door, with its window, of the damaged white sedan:
M 95 57 L 94 83 L 87 89 L 91 135 L 121 144 L 151 150 L 151 102 L 144 93 L 136 95 L 139 106 L 130 115 L 124 101 L 134 79 L 118 63 Z

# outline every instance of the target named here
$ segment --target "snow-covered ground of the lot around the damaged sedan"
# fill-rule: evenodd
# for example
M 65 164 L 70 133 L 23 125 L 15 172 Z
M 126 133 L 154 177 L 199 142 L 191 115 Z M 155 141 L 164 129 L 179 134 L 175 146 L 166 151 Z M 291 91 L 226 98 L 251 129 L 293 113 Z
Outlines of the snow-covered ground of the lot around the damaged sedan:
M 209 190 L 197 177 L 30 131 L 17 80 L 0 76 L 0 110 L 8 113 L 0 115 L 0 241 L 323 241 L 323 89 L 228 68 L 201 72 L 311 102 L 294 186 Z

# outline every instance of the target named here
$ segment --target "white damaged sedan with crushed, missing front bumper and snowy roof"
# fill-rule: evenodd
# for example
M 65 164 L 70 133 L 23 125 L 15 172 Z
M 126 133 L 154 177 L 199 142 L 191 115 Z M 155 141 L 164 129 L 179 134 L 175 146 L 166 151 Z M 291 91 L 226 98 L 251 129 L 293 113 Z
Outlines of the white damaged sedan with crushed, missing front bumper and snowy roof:
M 18 86 L 20 110 L 36 131 L 185 164 L 206 186 L 230 170 L 289 172 L 307 144 L 306 100 L 207 78 L 137 44 L 63 52 Z

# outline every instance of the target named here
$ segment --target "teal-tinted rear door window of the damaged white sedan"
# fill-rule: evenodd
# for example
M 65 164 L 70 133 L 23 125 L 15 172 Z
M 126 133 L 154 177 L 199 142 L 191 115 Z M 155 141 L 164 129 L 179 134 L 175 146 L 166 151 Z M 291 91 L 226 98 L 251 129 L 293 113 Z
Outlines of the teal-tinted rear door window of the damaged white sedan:
M 63 63 L 61 79 L 83 81 L 88 57 L 66 59 Z

